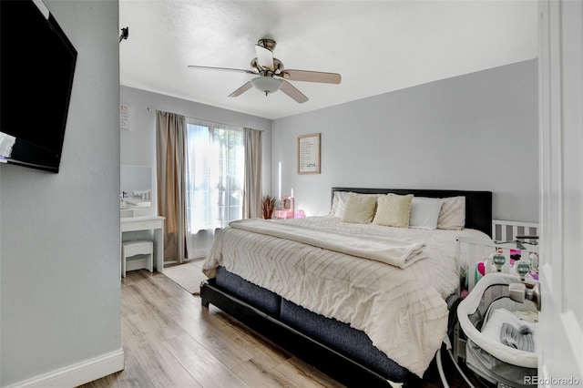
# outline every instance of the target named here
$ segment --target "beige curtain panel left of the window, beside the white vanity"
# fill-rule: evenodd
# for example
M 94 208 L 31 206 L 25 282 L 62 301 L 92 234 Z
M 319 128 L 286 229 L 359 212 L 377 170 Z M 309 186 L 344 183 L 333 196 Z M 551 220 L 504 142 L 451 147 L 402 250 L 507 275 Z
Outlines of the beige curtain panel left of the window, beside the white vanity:
M 166 218 L 164 260 L 182 262 L 186 251 L 186 117 L 156 111 L 158 213 Z

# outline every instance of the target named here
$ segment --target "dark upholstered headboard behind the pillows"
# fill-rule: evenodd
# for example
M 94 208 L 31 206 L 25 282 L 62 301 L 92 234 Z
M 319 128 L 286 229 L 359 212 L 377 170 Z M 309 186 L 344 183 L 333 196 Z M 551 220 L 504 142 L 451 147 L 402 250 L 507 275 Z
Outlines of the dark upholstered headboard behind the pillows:
M 335 191 L 352 191 L 361 194 L 413 194 L 415 197 L 446 198 L 465 197 L 465 228 L 482 230 L 492 236 L 492 191 L 465 191 L 439 189 L 364 189 L 332 188 L 332 200 Z

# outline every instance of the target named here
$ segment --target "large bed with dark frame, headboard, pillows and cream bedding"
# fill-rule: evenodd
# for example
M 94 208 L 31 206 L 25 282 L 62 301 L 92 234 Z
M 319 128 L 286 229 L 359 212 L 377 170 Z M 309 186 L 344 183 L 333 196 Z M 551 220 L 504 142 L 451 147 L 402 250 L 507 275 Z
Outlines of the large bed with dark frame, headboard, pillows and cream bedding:
M 459 287 L 455 239 L 491 226 L 490 191 L 332 188 L 327 216 L 222 230 L 201 301 L 340 383 L 414 386 Z

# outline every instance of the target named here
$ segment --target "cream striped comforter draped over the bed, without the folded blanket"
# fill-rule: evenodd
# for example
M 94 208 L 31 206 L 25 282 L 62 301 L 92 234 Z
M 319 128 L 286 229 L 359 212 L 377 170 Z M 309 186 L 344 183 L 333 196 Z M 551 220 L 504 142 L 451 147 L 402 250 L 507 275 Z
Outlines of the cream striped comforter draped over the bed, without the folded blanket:
M 424 259 L 406 268 L 336 250 L 230 227 L 203 265 L 218 266 L 283 298 L 362 330 L 394 362 L 422 376 L 444 339 L 445 298 L 459 284 L 455 238 L 490 240 L 477 230 L 414 230 L 349 224 L 333 217 L 270 220 L 359 236 L 423 243 Z

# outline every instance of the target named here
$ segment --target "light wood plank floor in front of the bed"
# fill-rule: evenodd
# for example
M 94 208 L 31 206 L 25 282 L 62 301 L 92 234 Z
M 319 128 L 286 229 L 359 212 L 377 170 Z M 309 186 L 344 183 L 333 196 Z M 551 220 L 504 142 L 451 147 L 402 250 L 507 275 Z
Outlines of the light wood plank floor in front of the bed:
M 122 281 L 121 340 L 125 369 L 83 388 L 342 386 L 159 272 Z M 441 386 L 432 364 L 420 387 Z

